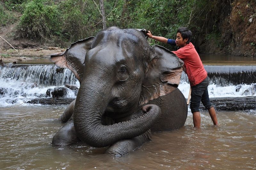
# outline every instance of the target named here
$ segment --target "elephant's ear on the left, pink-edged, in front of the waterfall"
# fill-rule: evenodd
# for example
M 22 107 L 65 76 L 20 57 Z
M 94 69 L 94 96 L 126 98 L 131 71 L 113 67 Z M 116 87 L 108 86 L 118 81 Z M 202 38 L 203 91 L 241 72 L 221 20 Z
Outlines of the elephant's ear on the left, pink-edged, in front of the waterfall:
M 83 78 L 84 59 L 88 50 L 91 49 L 94 37 L 76 41 L 64 52 L 52 54 L 51 61 L 61 68 L 70 69 L 81 81 Z

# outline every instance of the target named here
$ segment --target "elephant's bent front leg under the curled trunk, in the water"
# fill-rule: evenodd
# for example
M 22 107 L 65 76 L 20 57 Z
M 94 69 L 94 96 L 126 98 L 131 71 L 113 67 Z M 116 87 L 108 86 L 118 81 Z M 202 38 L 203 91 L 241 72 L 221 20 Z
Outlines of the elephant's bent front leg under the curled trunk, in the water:
M 137 149 L 142 144 L 148 141 L 151 141 L 150 130 L 148 130 L 147 132 L 143 133 L 140 136 L 116 142 L 115 144 L 111 145 L 105 153 L 115 156 L 123 156 L 134 151 L 135 149 Z

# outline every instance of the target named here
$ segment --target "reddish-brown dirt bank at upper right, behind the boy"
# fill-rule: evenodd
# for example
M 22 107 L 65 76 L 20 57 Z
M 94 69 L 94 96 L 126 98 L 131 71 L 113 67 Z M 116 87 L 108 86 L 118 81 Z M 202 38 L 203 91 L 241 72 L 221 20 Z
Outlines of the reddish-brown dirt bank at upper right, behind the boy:
M 256 57 L 256 1 L 234 0 L 224 9 L 215 23 L 220 33 L 212 29 L 196 42 L 200 53 Z

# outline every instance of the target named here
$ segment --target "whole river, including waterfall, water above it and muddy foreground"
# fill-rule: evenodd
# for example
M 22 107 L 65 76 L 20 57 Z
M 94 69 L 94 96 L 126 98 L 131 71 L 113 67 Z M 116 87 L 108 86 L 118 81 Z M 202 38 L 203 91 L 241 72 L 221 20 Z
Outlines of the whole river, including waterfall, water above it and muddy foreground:
M 205 69 L 212 74 L 211 98 L 255 95 L 255 59 L 202 56 Z M 212 58 L 218 60 L 214 63 Z M 67 105 L 23 102 L 44 98 L 47 89 L 66 83 L 79 87 L 79 82 L 69 70 L 58 72 L 55 66 L 45 64 L 49 63 L 9 64 L 0 70 L 0 169 L 256 169 L 256 110 L 218 111 L 218 127 L 202 111 L 201 129 L 196 129 L 188 109 L 184 127 L 154 133 L 151 142 L 123 157 L 105 155 L 106 148 L 81 143 L 52 146 L 53 135 L 63 125 L 58 117 Z M 247 78 L 237 76 L 239 72 Z M 230 80 L 233 76 L 240 78 Z M 179 89 L 187 98 L 189 84 L 184 75 Z M 70 91 L 67 96 L 75 94 Z

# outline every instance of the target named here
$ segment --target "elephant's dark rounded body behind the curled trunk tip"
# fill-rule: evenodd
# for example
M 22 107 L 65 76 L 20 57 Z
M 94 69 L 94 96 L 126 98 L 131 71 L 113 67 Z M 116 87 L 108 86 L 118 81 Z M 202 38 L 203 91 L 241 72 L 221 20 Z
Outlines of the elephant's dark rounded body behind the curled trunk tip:
M 161 117 L 151 128 L 152 132 L 179 129 L 185 124 L 188 106 L 184 95 L 178 88 L 171 93 L 152 100 L 149 104 L 156 104 L 161 108 Z

